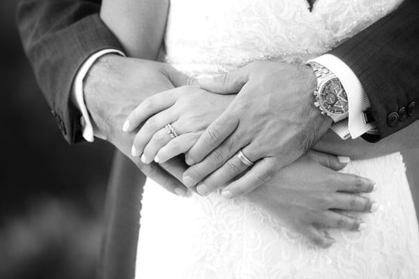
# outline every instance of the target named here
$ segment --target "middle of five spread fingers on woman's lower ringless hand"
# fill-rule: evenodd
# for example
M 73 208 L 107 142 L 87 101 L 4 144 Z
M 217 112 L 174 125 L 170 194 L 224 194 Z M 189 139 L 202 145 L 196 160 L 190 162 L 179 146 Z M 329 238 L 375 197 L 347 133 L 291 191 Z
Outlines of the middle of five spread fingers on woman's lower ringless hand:
M 368 197 L 348 193 L 337 193 L 335 202 L 334 209 L 346 211 L 374 212 L 378 209 L 378 204 Z

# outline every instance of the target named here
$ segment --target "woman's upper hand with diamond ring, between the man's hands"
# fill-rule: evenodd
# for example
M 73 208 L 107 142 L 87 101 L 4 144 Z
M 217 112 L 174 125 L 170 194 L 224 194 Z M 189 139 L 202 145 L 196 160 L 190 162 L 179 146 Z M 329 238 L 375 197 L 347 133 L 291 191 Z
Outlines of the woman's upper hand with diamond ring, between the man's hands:
M 142 163 L 164 163 L 185 153 L 234 97 L 182 86 L 147 98 L 124 124 L 123 130 L 131 132 L 145 122 L 135 135 L 132 155 L 141 156 Z M 177 137 L 170 137 L 167 124 L 171 124 Z

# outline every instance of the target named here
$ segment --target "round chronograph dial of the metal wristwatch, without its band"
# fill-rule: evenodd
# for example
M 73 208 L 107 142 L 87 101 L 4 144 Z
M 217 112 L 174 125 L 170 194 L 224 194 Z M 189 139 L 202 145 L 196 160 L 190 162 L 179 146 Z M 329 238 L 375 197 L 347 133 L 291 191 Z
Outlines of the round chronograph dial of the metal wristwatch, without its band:
M 318 100 L 321 107 L 330 114 L 341 115 L 348 112 L 348 96 L 337 78 L 328 80 L 323 85 Z

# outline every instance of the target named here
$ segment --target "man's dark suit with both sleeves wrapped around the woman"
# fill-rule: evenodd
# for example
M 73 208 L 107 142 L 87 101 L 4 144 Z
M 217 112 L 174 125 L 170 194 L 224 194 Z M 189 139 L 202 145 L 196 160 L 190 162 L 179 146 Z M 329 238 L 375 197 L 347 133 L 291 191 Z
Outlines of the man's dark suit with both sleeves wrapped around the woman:
M 122 48 L 98 17 L 100 4 L 100 0 L 23 0 L 18 8 L 24 50 L 70 143 L 82 140 L 80 114 L 69 102 L 75 73 L 94 52 Z M 419 119 L 419 1 L 404 1 L 395 12 L 330 53 L 351 67 L 371 101 L 379 135 L 365 135 L 367 140 L 380 140 Z M 130 161 L 118 153 L 108 191 L 100 264 L 103 278 L 133 276 L 141 195 L 138 183 L 143 181 Z

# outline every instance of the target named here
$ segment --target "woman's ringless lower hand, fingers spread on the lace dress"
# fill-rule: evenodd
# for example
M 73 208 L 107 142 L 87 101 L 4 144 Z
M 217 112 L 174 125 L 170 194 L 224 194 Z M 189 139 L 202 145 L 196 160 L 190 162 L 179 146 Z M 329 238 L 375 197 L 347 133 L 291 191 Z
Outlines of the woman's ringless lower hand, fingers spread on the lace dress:
M 279 223 L 305 236 L 321 248 L 335 243 L 319 228 L 362 230 L 362 220 L 346 216 L 344 211 L 374 212 L 378 204 L 355 193 L 369 193 L 374 182 L 342 174 L 345 167 L 338 158 L 309 151 L 291 165 L 281 169 L 273 179 L 247 194 L 251 202 L 269 212 Z M 236 195 L 242 189 L 230 188 Z

